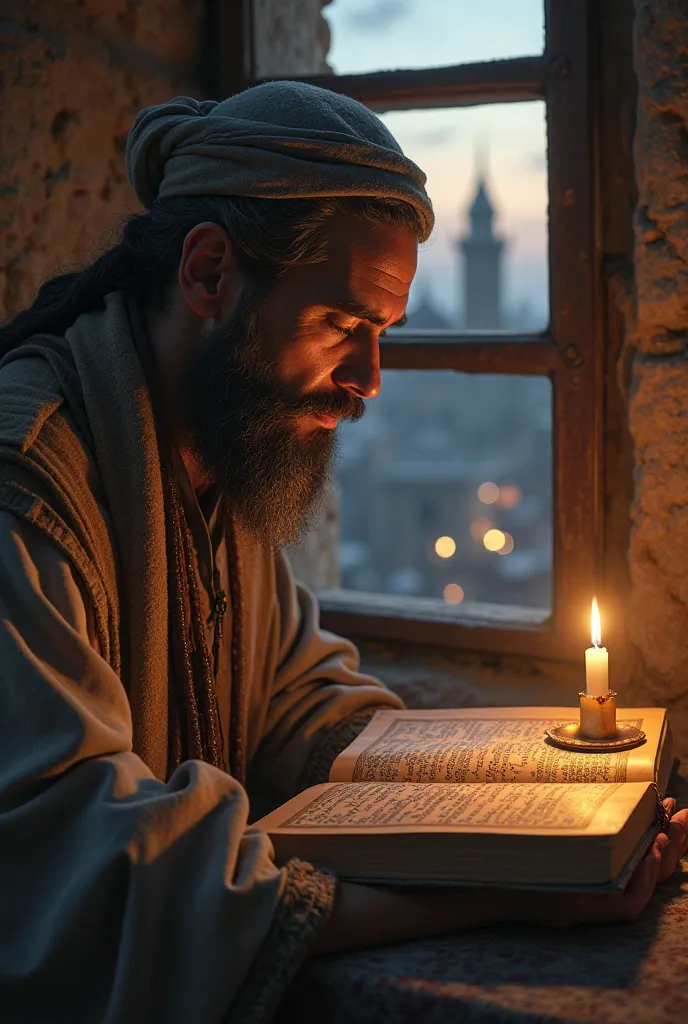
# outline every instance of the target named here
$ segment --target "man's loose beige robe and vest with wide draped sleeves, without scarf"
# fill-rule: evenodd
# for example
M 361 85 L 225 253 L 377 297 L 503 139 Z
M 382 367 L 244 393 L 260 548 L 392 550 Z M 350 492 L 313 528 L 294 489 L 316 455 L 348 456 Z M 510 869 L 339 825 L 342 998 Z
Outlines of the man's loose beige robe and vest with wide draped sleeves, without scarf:
M 284 555 L 240 527 L 245 693 L 232 707 L 229 609 L 218 705 L 225 720 L 241 716 L 248 785 L 202 761 L 167 777 L 165 515 L 132 315 L 113 294 L 63 340 L 32 340 L 0 365 L 8 1024 L 269 1019 L 335 880 L 301 861 L 275 866 L 249 821 L 327 771 L 373 709 L 400 703 L 319 629 Z

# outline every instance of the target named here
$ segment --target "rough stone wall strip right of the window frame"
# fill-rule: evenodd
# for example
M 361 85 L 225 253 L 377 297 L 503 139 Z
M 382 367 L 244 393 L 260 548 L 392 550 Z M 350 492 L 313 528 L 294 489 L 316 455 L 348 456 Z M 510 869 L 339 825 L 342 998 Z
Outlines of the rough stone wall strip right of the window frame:
M 688 756 L 688 19 L 636 0 L 635 499 L 630 633 L 637 700 L 674 711 Z

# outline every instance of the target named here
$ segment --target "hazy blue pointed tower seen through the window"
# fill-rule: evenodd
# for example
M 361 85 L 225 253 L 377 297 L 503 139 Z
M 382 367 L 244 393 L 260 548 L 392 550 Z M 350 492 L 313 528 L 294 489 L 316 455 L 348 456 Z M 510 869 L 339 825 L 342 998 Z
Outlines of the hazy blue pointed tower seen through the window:
M 463 308 L 467 331 L 502 328 L 502 255 L 504 241 L 494 234 L 494 208 L 487 195 L 484 167 L 478 168 L 476 190 L 468 209 L 469 233 L 461 240 L 464 254 Z

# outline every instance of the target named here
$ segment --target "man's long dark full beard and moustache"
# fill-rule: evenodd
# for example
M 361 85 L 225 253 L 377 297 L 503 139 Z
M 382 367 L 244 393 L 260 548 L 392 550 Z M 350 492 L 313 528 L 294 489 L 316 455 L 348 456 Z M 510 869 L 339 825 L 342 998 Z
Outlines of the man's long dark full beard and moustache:
M 316 520 L 335 461 L 335 431 L 299 434 L 306 414 L 359 420 L 348 391 L 293 399 L 261 353 L 260 297 L 245 288 L 223 327 L 204 334 L 186 379 L 193 454 L 225 504 L 260 541 L 296 544 Z

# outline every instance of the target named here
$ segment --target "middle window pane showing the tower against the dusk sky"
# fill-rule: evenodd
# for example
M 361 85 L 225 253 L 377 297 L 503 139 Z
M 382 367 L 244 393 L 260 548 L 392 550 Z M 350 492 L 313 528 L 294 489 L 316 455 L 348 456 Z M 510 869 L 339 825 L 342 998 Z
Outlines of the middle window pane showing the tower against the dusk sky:
M 382 120 L 423 168 L 435 229 L 408 327 L 541 331 L 549 321 L 545 104 L 401 111 Z

